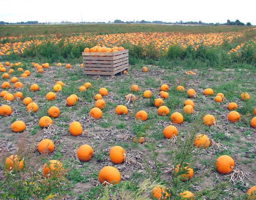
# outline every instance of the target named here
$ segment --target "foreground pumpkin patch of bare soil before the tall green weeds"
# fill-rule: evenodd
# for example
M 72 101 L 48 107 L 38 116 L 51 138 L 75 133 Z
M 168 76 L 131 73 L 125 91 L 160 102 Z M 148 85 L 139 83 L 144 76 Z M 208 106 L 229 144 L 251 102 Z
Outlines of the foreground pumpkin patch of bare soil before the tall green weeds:
M 255 69 L 0 66 L 1 199 L 254 199 Z

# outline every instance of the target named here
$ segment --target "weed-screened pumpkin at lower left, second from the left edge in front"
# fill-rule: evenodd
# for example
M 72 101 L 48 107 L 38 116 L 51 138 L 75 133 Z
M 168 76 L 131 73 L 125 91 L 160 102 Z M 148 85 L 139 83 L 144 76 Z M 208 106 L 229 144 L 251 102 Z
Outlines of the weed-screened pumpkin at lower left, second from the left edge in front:
M 63 171 L 62 163 L 58 160 L 49 160 L 43 166 L 44 176 L 50 176 L 50 175 L 59 176 L 61 171 Z

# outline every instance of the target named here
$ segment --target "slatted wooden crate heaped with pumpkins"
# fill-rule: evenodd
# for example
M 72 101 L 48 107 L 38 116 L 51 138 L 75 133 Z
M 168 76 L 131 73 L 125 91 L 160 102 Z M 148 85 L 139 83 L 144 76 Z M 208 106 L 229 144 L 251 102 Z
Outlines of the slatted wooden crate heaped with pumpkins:
M 118 52 L 82 52 L 84 74 L 113 76 L 128 69 L 128 49 Z

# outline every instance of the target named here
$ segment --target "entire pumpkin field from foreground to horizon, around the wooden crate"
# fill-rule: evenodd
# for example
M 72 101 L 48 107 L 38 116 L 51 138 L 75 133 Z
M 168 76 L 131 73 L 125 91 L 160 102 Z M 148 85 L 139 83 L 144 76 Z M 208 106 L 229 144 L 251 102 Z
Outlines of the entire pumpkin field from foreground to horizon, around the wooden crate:
M 3 25 L 0 71 L 0 199 L 256 199 L 254 26 Z

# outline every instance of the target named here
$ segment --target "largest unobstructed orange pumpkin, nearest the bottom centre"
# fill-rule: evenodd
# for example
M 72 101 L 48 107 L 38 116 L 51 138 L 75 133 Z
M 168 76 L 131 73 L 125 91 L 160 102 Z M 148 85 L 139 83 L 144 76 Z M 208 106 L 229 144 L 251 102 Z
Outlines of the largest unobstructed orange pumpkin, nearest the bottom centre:
M 121 180 L 121 174 L 118 169 L 112 166 L 105 166 L 100 170 L 99 173 L 99 180 L 100 183 L 104 183 L 104 185 L 111 183 L 111 184 L 118 184 Z

